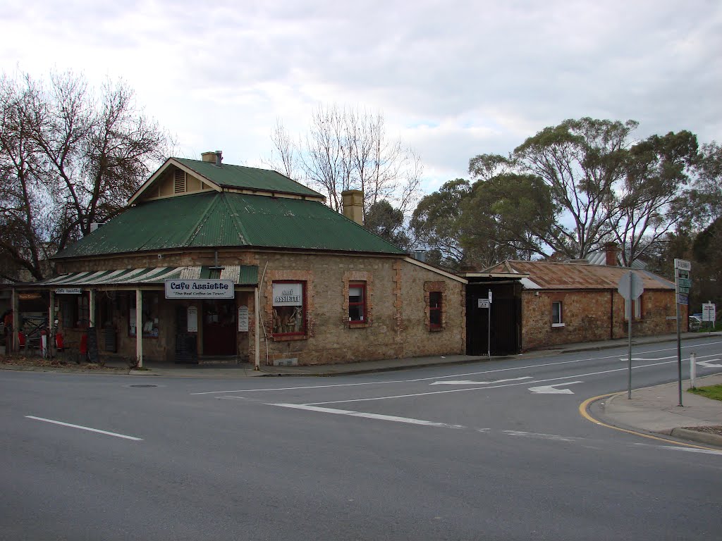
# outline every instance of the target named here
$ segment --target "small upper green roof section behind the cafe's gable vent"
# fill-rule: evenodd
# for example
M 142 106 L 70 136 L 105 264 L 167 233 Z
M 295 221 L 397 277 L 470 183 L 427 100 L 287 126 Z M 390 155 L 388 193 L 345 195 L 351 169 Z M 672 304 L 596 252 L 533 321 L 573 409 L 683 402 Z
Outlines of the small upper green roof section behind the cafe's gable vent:
M 224 188 L 242 188 L 323 197 L 321 193 L 311 190 L 276 171 L 231 164 L 222 164 L 221 167 L 217 167 L 215 162 L 202 162 L 197 159 L 172 159 Z

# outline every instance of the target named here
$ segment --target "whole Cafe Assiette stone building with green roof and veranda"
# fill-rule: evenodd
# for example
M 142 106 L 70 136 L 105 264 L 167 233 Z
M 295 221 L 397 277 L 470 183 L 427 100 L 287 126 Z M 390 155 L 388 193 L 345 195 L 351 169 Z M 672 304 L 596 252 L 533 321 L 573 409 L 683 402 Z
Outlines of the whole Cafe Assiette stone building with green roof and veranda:
M 464 278 L 277 172 L 170 158 L 41 289 L 66 345 L 148 361 L 325 364 L 464 353 Z M 344 193 L 362 219 L 362 196 Z M 16 297 L 17 297 L 16 291 Z M 17 299 L 15 301 L 17 306 Z

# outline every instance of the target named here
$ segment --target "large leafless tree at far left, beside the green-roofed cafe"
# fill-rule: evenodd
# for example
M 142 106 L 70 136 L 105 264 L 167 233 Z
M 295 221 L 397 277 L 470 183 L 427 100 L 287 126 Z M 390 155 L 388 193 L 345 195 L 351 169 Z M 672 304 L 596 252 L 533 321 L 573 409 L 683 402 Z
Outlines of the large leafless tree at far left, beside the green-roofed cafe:
M 27 226 L 0 251 L 41 278 L 41 259 L 126 206 L 170 138 L 123 82 L 107 82 L 98 97 L 70 73 L 51 74 L 47 85 L 28 75 L 1 84 L 0 212 L 9 227 L 24 208 Z

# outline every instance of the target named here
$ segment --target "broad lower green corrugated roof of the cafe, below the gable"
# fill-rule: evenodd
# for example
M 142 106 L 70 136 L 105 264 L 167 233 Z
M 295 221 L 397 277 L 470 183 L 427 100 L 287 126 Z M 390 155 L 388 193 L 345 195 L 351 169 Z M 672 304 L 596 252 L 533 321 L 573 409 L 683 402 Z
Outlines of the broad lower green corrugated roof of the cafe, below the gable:
M 202 247 L 405 253 L 318 201 L 204 192 L 132 206 L 55 257 Z

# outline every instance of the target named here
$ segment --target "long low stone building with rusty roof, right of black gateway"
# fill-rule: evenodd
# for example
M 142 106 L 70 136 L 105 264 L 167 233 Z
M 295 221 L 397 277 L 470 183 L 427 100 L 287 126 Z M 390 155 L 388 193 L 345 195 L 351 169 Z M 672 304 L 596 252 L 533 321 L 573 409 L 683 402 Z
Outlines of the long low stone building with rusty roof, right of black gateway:
M 632 335 L 677 332 L 674 283 L 643 269 L 633 269 L 642 278 L 642 296 L 631 303 L 617 291 L 619 280 L 630 268 L 616 266 L 616 257 L 606 265 L 586 260 L 567 263 L 504 261 L 487 273 L 521 276 L 521 348 L 532 350 L 566 343 L 613 340 L 627 336 L 627 315 L 632 313 Z M 687 330 L 687 307 L 682 325 Z

